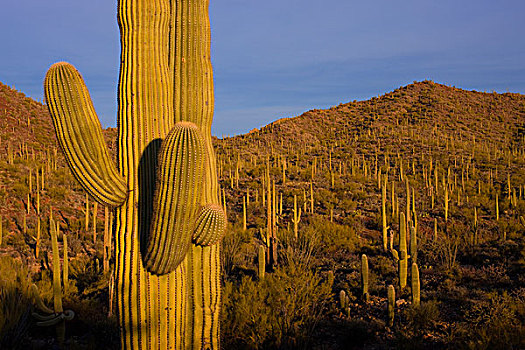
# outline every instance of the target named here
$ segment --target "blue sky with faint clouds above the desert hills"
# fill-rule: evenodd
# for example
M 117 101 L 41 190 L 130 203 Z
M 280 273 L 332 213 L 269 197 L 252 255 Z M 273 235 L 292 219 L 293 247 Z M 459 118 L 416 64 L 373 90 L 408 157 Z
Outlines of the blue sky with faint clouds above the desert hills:
M 414 80 L 525 93 L 524 0 L 211 0 L 213 133 L 367 99 Z M 0 7 L 0 81 L 42 99 L 56 61 L 116 124 L 116 0 Z

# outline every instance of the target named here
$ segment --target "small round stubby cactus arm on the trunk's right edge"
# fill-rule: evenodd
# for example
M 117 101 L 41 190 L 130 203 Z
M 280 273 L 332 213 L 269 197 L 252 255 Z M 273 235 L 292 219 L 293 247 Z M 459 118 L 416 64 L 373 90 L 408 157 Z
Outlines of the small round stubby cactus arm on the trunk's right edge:
M 226 215 L 218 204 L 203 206 L 197 216 L 193 231 L 193 243 L 199 245 L 214 245 L 226 232 Z

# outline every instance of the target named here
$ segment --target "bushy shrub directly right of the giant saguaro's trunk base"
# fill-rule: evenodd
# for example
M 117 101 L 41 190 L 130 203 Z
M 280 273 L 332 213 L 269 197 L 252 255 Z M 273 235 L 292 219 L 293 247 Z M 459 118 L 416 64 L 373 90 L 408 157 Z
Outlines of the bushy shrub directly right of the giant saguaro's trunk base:
M 260 281 L 244 277 L 223 290 L 224 346 L 304 348 L 331 300 L 331 284 L 301 265 L 285 265 Z

